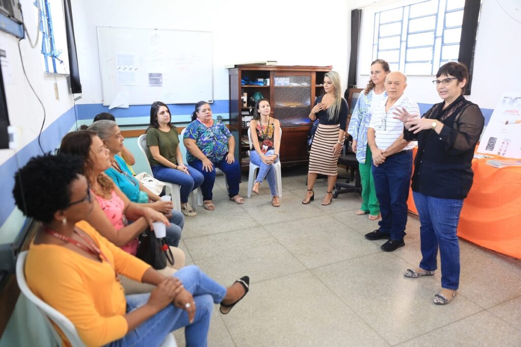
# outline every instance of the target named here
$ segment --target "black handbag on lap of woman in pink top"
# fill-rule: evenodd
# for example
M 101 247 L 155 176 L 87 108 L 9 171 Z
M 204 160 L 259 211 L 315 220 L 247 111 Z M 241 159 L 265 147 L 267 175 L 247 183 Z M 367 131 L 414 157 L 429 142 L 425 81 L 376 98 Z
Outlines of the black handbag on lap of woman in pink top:
M 174 263 L 172 251 L 165 238 L 156 238 L 154 232 L 150 229 L 147 229 L 139 237 L 138 251 L 135 256 L 156 270 L 164 269 L 167 262 L 170 265 Z

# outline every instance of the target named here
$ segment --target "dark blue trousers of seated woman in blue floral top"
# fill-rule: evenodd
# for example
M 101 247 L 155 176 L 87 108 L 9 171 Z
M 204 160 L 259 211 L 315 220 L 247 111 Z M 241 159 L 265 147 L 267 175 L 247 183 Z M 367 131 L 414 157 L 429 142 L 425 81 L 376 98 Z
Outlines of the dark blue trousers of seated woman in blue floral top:
M 190 162 L 189 164 L 201 172 L 204 176 L 203 184 L 201 184 L 201 191 L 203 192 L 203 200 L 212 200 L 214 196 L 212 194 L 212 190 L 214 189 L 215 183 L 215 168 L 218 167 L 222 172 L 226 173 L 226 184 L 228 184 L 228 196 L 233 197 L 239 194 L 239 183 L 241 183 L 241 165 L 239 164 L 239 160 L 235 159 L 235 162 L 228 164 L 226 162 L 226 156 L 222 158 L 220 162 L 214 162 L 210 160 L 214 164 L 214 170 L 210 172 L 206 172 L 203 170 L 203 162 L 197 159 L 194 162 Z

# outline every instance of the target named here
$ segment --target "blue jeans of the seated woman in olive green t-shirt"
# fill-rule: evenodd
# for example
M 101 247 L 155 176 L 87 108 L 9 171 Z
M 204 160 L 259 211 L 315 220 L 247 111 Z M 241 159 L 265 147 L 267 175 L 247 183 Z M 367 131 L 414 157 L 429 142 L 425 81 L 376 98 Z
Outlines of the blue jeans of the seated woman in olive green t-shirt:
M 185 166 L 188 168 L 190 175 L 163 165 L 152 166 L 152 173 L 155 179 L 163 182 L 179 184 L 181 186 L 181 204 L 188 202 L 188 196 L 192 190 L 199 188 L 204 179 L 203 175 L 201 175 L 199 171 L 188 165 Z

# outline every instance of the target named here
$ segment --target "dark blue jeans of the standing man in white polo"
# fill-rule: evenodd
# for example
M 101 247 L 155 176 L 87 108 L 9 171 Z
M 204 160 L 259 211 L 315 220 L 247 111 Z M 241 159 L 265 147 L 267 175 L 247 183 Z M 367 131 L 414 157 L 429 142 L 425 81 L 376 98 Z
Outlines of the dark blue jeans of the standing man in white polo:
M 367 160 L 371 160 L 367 158 Z M 375 180 L 376 197 L 380 203 L 382 219 L 378 222 L 383 234 L 394 240 L 403 240 L 407 224 L 407 198 L 411 185 L 413 152 L 396 154 L 383 164 L 371 164 Z

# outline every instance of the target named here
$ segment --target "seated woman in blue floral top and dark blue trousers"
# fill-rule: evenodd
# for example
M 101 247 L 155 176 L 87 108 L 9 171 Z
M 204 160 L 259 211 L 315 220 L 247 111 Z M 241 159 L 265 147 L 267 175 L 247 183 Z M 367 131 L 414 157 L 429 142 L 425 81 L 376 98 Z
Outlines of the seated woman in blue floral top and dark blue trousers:
M 230 200 L 243 204 L 244 199 L 239 195 L 241 167 L 233 156 L 235 140 L 224 124 L 214 122 L 212 109 L 208 103 L 200 101 L 195 105 L 192 122 L 184 131 L 183 142 L 187 147 L 188 164 L 204 176 L 201 184 L 204 208 L 215 209 L 212 202 L 215 183 L 214 167 L 218 167 L 226 174 Z

